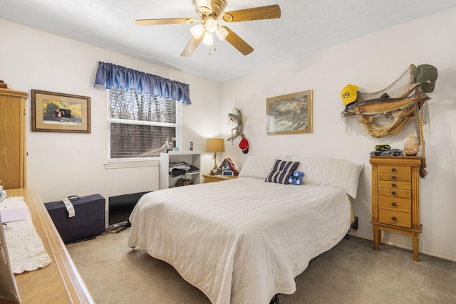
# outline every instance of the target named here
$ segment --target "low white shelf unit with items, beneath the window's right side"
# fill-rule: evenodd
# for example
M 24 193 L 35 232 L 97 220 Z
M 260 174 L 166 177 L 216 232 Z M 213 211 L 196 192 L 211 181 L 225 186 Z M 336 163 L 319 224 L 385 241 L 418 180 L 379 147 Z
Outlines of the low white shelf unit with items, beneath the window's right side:
M 187 172 L 177 177 L 170 175 L 170 163 L 185 162 L 198 168 L 195 172 Z M 200 182 L 201 154 L 195 151 L 170 151 L 160 154 L 160 190 L 176 187 L 180 179 L 186 179 L 193 184 Z

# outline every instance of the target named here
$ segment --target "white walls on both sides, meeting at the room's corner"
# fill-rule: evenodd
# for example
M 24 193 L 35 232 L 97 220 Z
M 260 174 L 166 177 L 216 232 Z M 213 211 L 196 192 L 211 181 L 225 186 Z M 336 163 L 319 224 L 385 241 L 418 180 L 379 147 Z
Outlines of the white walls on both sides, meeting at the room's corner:
M 195 150 L 204 151 L 205 137 L 229 137 L 227 115 L 239 108 L 250 143 L 249 154 L 239 150 L 236 140 L 235 145 L 226 145 L 227 152 L 219 160 L 232 157 L 242 167 L 252 154 L 306 154 L 363 163 L 365 168 L 355 200 L 360 227 L 353 234 L 372 239 L 368 159 L 375 142 L 346 135 L 340 117 L 340 92 L 348 83 L 358 85 L 363 92 L 381 90 L 393 83 L 410 63 L 429 63 L 437 67 L 439 78 L 435 91 L 429 93 L 432 138 L 426 142 L 429 174 L 420 181 L 420 251 L 456 261 L 456 42 L 452 39 L 455 17 L 456 8 L 447 9 L 224 83 L 0 19 L 0 28 L 4 29 L 0 77 L 6 83 L 28 93 L 33 88 L 92 98 L 90 135 L 31 132 L 28 117 L 28 186 L 36 187 L 44 201 L 68 194 L 100 193 L 107 197 L 158 189 L 158 167 L 103 167 L 107 136 L 105 92 L 93 88 L 93 79 L 98 61 L 105 61 L 190 84 L 193 104 L 183 107 L 185 148 L 192 140 Z M 314 132 L 266 136 L 266 98 L 302 90 L 314 91 Z M 390 144 L 403 146 L 402 142 Z M 212 167 L 212 159 L 209 154 L 203 155 L 202 172 L 206 172 Z M 58 167 L 59 163 L 65 164 L 65 169 Z M 411 248 L 408 237 L 388 232 L 384 236 L 385 243 Z

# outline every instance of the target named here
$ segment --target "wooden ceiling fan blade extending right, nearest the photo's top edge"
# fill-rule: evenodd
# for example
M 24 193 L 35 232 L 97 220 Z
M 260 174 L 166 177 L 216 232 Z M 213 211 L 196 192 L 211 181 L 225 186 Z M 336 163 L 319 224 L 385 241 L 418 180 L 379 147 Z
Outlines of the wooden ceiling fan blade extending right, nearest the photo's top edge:
M 238 22 L 252 21 L 261 19 L 280 18 L 281 11 L 279 4 L 269 6 L 259 6 L 252 9 L 240 9 L 239 11 L 227 11 L 222 14 L 223 21 Z

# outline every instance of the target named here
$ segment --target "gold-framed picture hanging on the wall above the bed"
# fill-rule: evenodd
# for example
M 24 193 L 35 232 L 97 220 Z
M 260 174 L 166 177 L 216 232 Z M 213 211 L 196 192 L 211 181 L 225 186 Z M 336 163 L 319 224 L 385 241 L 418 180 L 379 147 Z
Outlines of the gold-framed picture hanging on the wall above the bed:
M 312 132 L 312 90 L 266 98 L 266 134 Z

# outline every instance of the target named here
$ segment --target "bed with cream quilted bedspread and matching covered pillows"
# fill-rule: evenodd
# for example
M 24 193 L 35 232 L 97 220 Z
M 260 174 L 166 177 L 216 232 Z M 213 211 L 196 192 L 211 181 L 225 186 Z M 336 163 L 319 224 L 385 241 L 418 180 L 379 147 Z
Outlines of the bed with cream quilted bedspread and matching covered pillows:
M 304 184 L 265 182 L 279 161 L 304 172 Z M 251 156 L 237 179 L 142 196 L 128 246 L 170 263 L 214 304 L 266 304 L 294 293 L 309 261 L 346 236 L 362 169 L 330 157 Z

